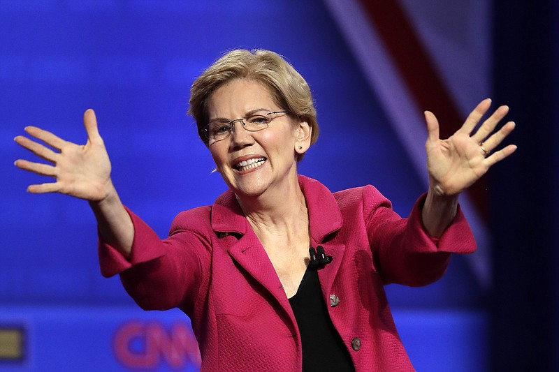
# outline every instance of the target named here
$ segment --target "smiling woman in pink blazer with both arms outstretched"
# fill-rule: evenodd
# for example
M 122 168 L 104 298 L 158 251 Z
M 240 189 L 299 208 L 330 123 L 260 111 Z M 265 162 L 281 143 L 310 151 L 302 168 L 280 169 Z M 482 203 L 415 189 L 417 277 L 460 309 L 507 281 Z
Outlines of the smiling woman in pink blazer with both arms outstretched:
M 59 151 L 18 136 L 53 165 L 16 165 L 56 178 L 31 193 L 89 201 L 103 275 L 145 309 L 189 315 L 203 371 L 412 371 L 382 285 L 426 285 L 450 253 L 474 251 L 458 195 L 516 149 L 489 155 L 514 129 L 494 132 L 507 107 L 472 133 L 490 105 L 447 140 L 426 112 L 430 185 L 405 219 L 372 186 L 333 194 L 297 174 L 316 112 L 303 77 L 266 50 L 229 52 L 194 82 L 189 112 L 228 191 L 179 214 L 163 241 L 120 202 L 92 110 L 85 146 L 28 127 Z

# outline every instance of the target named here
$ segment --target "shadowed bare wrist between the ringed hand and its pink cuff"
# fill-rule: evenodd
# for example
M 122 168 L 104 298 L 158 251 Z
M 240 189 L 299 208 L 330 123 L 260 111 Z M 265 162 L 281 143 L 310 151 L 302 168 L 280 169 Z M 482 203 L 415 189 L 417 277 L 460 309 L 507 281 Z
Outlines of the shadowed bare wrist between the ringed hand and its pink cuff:
M 430 189 L 421 210 L 423 227 L 431 237 L 440 237 L 458 211 L 458 195 L 440 195 Z

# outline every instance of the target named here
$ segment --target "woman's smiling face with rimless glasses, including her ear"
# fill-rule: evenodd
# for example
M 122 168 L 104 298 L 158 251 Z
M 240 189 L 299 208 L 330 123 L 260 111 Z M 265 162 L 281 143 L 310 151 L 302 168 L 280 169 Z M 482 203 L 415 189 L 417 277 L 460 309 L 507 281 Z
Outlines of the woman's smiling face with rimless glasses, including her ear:
M 283 111 L 268 88 L 255 80 L 237 79 L 219 87 L 208 100 L 210 122 L 227 122 L 252 114 Z M 310 128 L 288 114 L 270 115 L 268 128 L 249 132 L 235 121 L 224 140 L 210 142 L 210 153 L 226 184 L 239 197 L 287 192 L 297 184 L 296 156 L 310 146 Z M 299 148 L 300 147 L 300 148 Z

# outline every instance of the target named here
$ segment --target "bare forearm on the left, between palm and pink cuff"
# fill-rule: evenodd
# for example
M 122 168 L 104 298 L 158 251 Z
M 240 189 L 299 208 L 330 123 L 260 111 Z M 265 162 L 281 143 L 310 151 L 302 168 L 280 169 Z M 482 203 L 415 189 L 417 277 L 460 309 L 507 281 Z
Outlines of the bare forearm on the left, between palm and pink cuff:
M 112 183 L 106 198 L 100 201 L 90 201 L 89 206 L 95 214 L 99 235 L 108 244 L 117 248 L 126 259 L 129 259 L 134 239 L 134 227 Z

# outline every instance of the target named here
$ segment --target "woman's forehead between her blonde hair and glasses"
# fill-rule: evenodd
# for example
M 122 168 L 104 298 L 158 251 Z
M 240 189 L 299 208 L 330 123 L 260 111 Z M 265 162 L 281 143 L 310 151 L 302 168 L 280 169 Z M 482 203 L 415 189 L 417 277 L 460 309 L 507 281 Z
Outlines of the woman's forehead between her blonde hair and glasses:
M 277 109 L 270 89 L 262 82 L 235 79 L 216 89 L 208 98 L 208 116 L 240 117 L 256 108 Z

